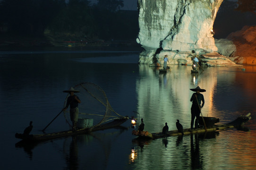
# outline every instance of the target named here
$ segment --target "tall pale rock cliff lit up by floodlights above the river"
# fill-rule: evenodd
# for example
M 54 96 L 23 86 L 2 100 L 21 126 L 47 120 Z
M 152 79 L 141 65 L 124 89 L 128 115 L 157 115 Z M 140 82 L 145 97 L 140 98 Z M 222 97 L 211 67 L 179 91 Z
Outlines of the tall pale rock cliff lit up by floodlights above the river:
M 190 64 L 196 54 L 217 51 L 211 32 L 223 0 L 138 0 L 140 63 Z M 191 55 L 192 54 L 192 55 Z

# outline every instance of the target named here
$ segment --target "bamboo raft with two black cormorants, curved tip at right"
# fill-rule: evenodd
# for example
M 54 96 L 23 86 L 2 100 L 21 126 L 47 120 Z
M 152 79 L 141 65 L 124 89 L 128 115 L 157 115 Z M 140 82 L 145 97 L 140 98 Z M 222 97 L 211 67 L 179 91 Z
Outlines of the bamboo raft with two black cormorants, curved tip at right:
M 205 132 L 214 132 L 214 131 L 238 128 L 241 125 L 243 125 L 245 122 L 251 119 L 250 115 L 251 113 L 248 113 L 245 116 L 239 116 L 234 121 L 231 121 L 230 123 L 223 124 L 223 125 L 213 125 L 212 127 L 206 127 L 206 128 L 201 127 L 196 129 L 190 129 L 190 128 L 183 129 L 183 133 L 184 135 L 190 135 L 190 134 L 199 134 L 199 133 L 205 133 Z M 168 131 L 167 134 L 162 134 L 162 132 L 150 133 L 148 131 L 133 130 L 132 134 L 140 138 L 149 138 L 149 139 L 157 139 L 157 138 L 168 137 L 168 136 L 182 136 L 182 134 L 179 133 L 178 130 Z

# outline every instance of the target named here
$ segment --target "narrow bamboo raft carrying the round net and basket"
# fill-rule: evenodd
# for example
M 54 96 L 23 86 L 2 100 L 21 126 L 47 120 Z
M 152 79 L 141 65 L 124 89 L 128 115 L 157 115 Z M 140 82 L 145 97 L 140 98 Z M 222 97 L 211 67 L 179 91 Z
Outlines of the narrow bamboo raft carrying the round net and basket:
M 118 127 L 119 125 L 121 125 L 125 121 L 127 121 L 128 119 L 129 119 L 128 117 L 114 119 L 113 121 L 111 121 L 109 123 L 105 123 L 105 124 L 102 124 L 97 127 L 81 128 L 81 129 L 77 129 L 75 131 L 66 130 L 66 131 L 60 131 L 60 132 L 55 132 L 55 133 L 36 134 L 36 135 L 23 135 L 23 134 L 16 133 L 15 137 L 18 139 L 22 139 L 25 142 L 41 142 L 41 141 L 47 141 L 47 140 L 56 139 L 56 138 L 60 138 L 60 137 L 89 134 L 91 132 L 98 131 L 98 130 L 104 130 L 104 129 Z

